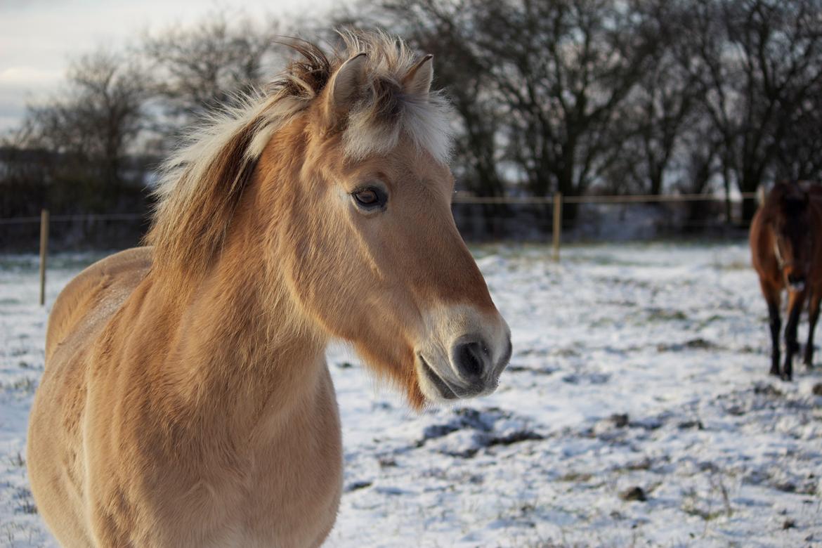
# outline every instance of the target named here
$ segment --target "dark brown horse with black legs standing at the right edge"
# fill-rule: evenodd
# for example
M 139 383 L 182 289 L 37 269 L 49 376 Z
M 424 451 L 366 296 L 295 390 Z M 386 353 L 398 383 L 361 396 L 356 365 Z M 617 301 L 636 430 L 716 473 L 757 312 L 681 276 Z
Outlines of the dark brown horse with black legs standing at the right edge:
M 769 192 L 750 225 L 750 251 L 765 301 L 771 331 L 771 375 L 791 380 L 793 355 L 799 351 L 799 315 L 809 302 L 805 365 L 813 366 L 814 329 L 822 300 L 822 187 L 779 182 Z M 781 294 L 787 288 L 785 364 L 779 371 Z

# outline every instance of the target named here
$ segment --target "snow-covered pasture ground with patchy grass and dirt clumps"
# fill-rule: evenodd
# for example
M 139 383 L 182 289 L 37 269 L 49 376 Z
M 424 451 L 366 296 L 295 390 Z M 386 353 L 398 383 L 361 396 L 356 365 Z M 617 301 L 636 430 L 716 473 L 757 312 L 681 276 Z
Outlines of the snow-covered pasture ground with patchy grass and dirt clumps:
M 475 252 L 513 333 L 496 394 L 417 414 L 330 349 L 327 546 L 822 546 L 822 370 L 767 375 L 745 245 Z M 53 261 L 49 302 L 90 259 Z M 37 294 L 36 259 L 0 257 L 0 546 L 53 546 L 25 477 Z

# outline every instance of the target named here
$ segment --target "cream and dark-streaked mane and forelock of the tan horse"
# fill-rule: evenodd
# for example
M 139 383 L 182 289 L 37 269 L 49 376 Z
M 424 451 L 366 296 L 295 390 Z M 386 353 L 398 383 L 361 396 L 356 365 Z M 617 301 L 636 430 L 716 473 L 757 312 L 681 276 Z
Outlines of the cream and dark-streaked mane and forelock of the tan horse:
M 383 32 L 339 31 L 341 47 L 326 54 L 305 40 L 289 44 L 298 58 L 279 78 L 240 106 L 212 113 L 183 137 L 183 146 L 162 165 L 155 214 L 145 243 L 154 246 L 154 269 L 179 276 L 202 273 L 224 243 L 242 191 L 271 137 L 309 108 L 335 71 L 366 53 L 365 84 L 349 113 L 326 135 L 341 133 L 350 159 L 386 153 L 404 132 L 445 163 L 450 154 L 449 107 L 443 96 L 407 94 L 403 79 L 418 58 L 401 39 Z

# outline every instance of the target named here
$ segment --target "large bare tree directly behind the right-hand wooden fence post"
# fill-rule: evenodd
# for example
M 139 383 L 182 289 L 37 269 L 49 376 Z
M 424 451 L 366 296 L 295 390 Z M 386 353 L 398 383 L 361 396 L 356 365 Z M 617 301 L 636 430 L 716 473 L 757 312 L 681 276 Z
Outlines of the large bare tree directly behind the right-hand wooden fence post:
M 647 21 L 596 0 L 482 0 L 475 12 L 474 40 L 509 108 L 510 155 L 530 191 L 584 192 L 617 158 L 613 122 L 653 49 Z

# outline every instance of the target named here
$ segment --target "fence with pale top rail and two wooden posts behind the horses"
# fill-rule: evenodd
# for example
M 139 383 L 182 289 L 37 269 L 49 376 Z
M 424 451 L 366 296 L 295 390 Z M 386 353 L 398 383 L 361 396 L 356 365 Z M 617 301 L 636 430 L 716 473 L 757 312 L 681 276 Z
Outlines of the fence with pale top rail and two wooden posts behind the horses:
M 672 202 L 737 202 L 739 200 L 756 198 L 764 199 L 764 192 L 760 188 L 757 192 L 742 192 L 736 196 L 714 196 L 705 194 L 679 194 L 666 196 L 650 195 L 612 195 L 612 196 L 562 196 L 557 192 L 553 196 L 471 196 L 458 193 L 454 196 L 455 204 L 510 204 L 510 205 L 553 205 L 552 219 L 552 256 L 560 259 L 562 205 L 563 204 L 642 204 L 642 203 L 672 203 Z M 50 223 L 65 223 L 76 220 L 121 221 L 146 219 L 147 214 L 113 213 L 113 214 L 63 214 L 49 216 L 48 210 L 43 210 L 39 217 L 12 217 L 0 219 L 3 224 L 40 223 L 40 304 L 45 304 L 46 262 L 48 260 L 48 226 Z

